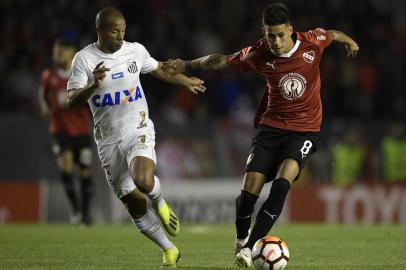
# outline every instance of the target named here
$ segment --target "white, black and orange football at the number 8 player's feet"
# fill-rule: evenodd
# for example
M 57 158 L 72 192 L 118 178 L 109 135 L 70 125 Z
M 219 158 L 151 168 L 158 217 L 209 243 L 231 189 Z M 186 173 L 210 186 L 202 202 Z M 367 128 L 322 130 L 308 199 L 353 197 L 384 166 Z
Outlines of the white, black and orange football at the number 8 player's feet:
M 258 270 L 281 270 L 289 261 L 286 243 L 276 236 L 259 239 L 252 249 L 252 262 Z

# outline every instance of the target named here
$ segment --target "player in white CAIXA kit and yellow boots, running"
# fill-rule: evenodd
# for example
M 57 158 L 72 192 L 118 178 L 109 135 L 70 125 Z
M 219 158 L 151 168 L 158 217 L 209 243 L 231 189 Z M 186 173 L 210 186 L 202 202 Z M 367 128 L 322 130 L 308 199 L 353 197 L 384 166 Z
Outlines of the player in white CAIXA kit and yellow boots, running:
M 176 267 L 179 250 L 161 229 L 179 234 L 179 220 L 162 197 L 155 176 L 155 131 L 140 83 L 140 73 L 204 92 L 203 81 L 152 58 L 139 43 L 124 41 L 126 22 L 120 11 L 104 8 L 96 16 L 97 42 L 79 51 L 68 81 L 71 106 L 88 101 L 94 137 L 107 181 L 127 207 L 138 229 L 163 251 L 163 264 Z M 147 198 L 152 208 L 148 207 Z

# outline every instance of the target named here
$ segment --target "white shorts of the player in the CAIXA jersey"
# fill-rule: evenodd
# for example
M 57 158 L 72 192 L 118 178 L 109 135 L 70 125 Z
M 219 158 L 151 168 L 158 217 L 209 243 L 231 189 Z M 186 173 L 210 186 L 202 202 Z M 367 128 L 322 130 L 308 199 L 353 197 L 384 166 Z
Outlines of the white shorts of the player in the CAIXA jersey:
M 156 164 L 155 131 L 148 128 L 143 133 L 126 137 L 119 143 L 98 145 L 97 151 L 110 188 L 118 198 L 122 198 L 136 188 L 130 175 L 131 160 L 142 156 Z

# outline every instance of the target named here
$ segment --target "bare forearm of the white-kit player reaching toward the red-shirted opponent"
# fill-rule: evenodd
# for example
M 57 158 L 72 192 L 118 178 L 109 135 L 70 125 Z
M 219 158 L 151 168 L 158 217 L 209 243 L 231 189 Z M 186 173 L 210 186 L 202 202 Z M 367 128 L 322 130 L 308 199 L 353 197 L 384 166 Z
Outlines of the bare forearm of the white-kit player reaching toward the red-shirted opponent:
M 165 63 L 159 62 L 158 68 L 150 74 L 164 82 L 185 87 L 195 94 L 204 93 L 206 90 L 206 87 L 203 85 L 204 81 L 196 77 L 187 77 L 181 73 L 174 74 L 173 69 L 170 69 Z

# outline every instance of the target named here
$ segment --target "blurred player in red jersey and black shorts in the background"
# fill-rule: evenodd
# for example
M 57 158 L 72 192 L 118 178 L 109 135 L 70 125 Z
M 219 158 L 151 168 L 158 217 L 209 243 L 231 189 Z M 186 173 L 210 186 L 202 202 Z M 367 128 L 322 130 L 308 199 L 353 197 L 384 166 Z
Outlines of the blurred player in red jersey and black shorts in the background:
M 66 102 L 66 85 L 75 53 L 72 42 L 65 39 L 55 41 L 52 54 L 54 67 L 42 73 L 39 103 L 41 114 L 49 119 L 52 151 L 73 211 L 71 222 L 88 225 L 91 222 L 89 207 L 93 193 L 91 116 L 87 105 L 69 108 Z M 74 165 L 78 167 L 81 196 L 74 188 Z

